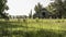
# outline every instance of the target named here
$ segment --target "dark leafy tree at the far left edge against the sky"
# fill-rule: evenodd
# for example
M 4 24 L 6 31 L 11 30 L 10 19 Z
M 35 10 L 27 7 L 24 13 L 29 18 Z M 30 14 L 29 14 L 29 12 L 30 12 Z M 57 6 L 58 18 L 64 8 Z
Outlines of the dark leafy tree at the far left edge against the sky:
M 8 14 L 6 11 L 9 10 L 7 5 L 7 0 L 0 0 L 0 16 L 3 18 L 8 18 Z

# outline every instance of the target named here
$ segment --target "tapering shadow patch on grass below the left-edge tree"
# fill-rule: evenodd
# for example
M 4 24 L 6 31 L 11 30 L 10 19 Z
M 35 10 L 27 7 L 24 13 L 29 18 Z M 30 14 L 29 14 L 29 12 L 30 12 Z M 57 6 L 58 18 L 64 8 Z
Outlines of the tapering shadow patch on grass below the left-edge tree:
M 20 25 L 19 23 L 8 23 L 8 22 L 0 22 L 0 27 L 3 28 L 16 28 L 16 27 L 25 27 L 23 25 Z

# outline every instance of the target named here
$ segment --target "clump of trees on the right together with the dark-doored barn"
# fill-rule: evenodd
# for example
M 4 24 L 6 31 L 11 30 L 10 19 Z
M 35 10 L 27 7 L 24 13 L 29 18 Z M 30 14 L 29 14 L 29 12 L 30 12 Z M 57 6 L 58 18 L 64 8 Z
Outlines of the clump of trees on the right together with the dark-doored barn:
M 66 18 L 66 0 L 55 0 L 54 2 L 51 2 L 46 8 L 43 8 L 42 4 L 37 3 L 34 10 L 34 17 L 36 16 L 38 18 Z

